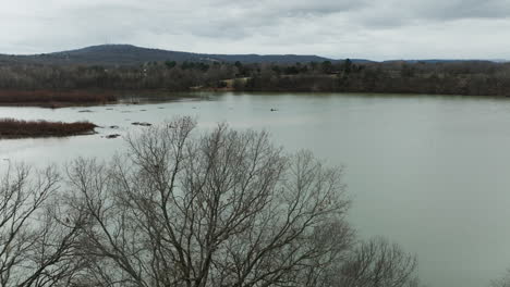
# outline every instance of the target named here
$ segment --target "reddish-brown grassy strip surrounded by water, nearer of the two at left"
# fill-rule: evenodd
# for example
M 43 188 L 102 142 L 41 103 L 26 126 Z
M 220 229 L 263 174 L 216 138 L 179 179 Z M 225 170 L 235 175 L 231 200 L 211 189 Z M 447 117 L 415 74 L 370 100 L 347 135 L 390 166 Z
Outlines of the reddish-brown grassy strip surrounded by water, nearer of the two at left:
M 62 123 L 0 118 L 0 138 L 66 137 L 94 133 L 88 122 Z

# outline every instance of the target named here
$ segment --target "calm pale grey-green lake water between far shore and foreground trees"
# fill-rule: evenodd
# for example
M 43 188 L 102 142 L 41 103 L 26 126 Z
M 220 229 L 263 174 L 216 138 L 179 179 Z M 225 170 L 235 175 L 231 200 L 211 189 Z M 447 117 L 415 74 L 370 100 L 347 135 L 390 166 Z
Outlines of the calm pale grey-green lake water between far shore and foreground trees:
M 270 109 L 278 109 L 271 112 Z M 80 112 L 90 110 L 92 112 Z M 107 159 L 132 122 L 194 115 L 208 128 L 268 129 L 288 150 L 344 165 L 350 221 L 415 252 L 430 287 L 479 287 L 510 267 L 510 101 L 348 93 L 202 93 L 172 102 L 59 110 L 0 108 L 0 117 L 88 120 L 97 135 L 0 141 L 0 158 L 36 164 Z M 0 164 L 2 164 L 0 162 Z

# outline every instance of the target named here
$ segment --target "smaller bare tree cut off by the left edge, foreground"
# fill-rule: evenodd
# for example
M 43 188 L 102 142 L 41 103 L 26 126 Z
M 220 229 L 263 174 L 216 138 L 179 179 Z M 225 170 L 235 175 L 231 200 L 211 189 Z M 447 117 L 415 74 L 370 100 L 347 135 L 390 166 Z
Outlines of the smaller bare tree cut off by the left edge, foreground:
M 7 167 L 0 179 L 0 286 L 54 286 L 77 270 L 78 219 L 62 224 L 58 205 L 50 204 L 58 184 L 54 167 Z

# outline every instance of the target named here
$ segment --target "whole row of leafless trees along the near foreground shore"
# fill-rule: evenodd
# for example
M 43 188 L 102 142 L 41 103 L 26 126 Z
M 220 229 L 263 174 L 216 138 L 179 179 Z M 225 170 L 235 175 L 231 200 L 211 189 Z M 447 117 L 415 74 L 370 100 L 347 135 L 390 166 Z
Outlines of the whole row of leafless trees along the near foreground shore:
M 417 285 L 414 255 L 356 239 L 340 169 L 264 132 L 195 126 L 175 118 L 61 174 L 3 167 L 0 285 Z

